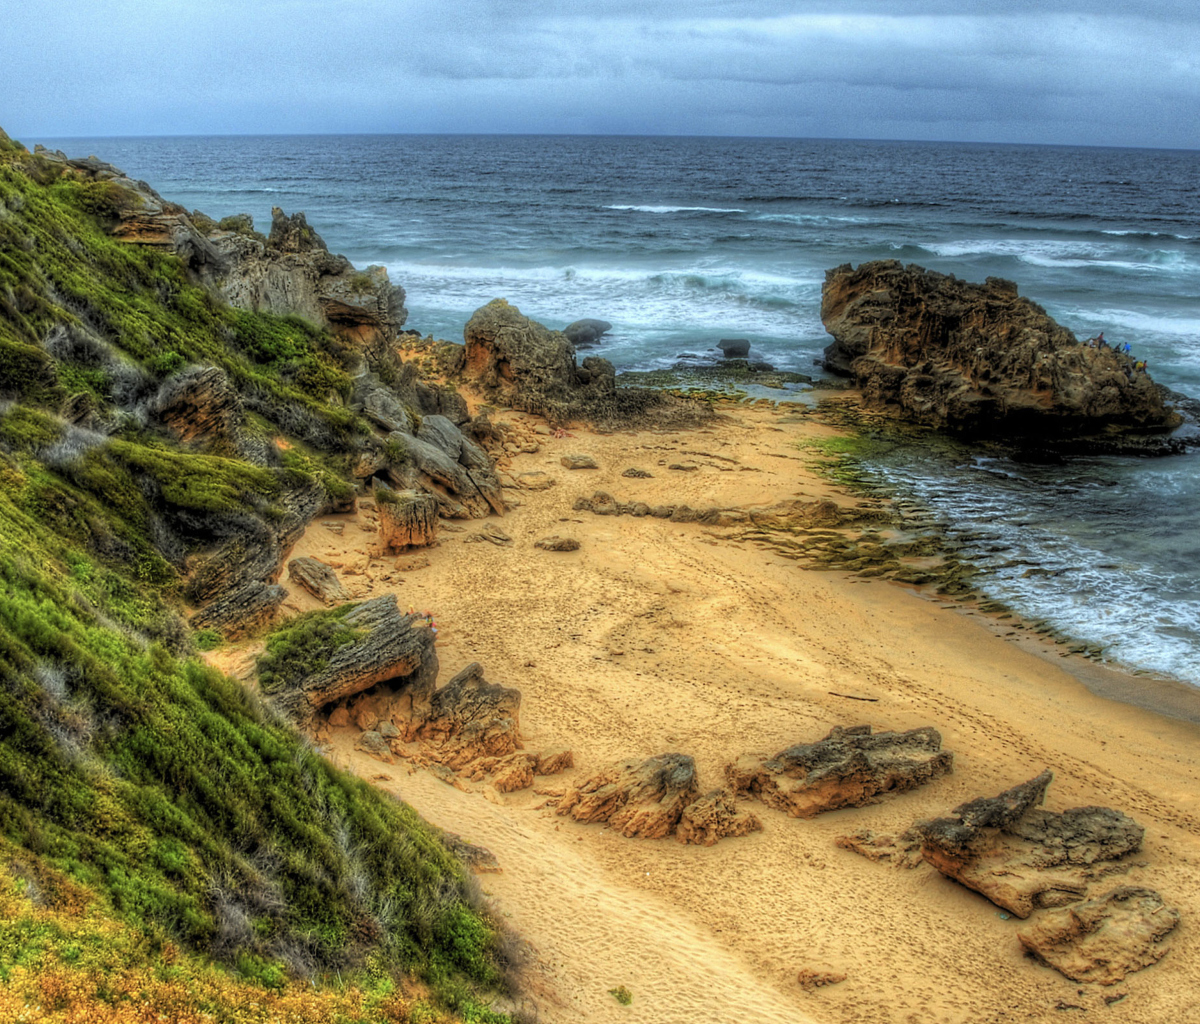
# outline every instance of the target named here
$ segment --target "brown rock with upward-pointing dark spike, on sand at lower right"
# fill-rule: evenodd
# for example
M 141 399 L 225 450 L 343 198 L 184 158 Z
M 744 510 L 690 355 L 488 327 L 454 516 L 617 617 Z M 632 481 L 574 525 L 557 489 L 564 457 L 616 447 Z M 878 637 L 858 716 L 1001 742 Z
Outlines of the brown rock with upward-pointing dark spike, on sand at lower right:
M 918 822 L 924 860 L 1018 917 L 1082 899 L 1092 881 L 1121 870 L 1114 862 L 1141 849 L 1144 830 L 1103 807 L 1038 809 L 1051 778 L 1046 771 Z

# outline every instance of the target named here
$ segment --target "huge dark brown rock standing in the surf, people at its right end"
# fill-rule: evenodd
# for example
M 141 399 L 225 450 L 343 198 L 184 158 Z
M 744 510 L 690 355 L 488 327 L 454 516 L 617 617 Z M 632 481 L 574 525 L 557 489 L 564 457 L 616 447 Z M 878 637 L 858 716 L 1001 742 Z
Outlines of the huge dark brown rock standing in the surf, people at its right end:
M 826 369 L 916 423 L 1042 441 L 1181 423 L 1128 357 L 1080 345 L 998 277 L 972 285 L 894 259 L 845 264 L 826 274 L 821 319 L 834 337 Z

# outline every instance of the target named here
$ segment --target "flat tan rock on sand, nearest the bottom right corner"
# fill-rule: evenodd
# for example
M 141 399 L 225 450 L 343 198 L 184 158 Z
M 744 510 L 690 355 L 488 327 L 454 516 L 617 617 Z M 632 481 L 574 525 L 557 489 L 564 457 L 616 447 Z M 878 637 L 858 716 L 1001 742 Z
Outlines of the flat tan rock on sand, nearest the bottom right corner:
M 1039 915 L 1020 928 L 1025 950 L 1075 982 L 1116 984 L 1166 956 L 1180 912 L 1150 888 L 1121 886 L 1099 899 Z

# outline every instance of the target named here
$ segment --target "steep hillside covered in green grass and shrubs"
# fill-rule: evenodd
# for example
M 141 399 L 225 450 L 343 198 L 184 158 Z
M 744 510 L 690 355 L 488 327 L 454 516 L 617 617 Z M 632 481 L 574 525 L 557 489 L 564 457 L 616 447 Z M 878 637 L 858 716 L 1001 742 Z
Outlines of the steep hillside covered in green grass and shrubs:
M 340 403 L 348 354 L 112 240 L 104 186 L 0 133 L 0 1017 L 170 999 L 194 1019 L 434 1019 L 397 994 L 418 977 L 502 1019 L 480 1010 L 498 939 L 458 862 L 204 666 L 180 615 L 190 559 L 240 517 L 298 486 L 344 497 L 365 430 Z M 149 396 L 196 364 L 288 438 L 268 465 L 152 427 Z M 301 992 L 325 1008 L 287 1008 Z

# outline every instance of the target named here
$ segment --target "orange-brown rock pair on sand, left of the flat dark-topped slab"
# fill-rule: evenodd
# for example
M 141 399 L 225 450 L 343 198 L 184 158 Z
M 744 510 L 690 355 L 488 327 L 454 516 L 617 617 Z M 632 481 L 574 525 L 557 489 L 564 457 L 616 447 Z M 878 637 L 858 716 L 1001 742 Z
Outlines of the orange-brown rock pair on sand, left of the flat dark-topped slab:
M 583 824 L 604 822 L 626 837 L 712 846 L 730 836 L 748 836 L 762 822 L 738 810 L 725 789 L 700 795 L 696 763 L 686 754 L 660 754 L 625 761 L 566 790 L 558 813 Z

